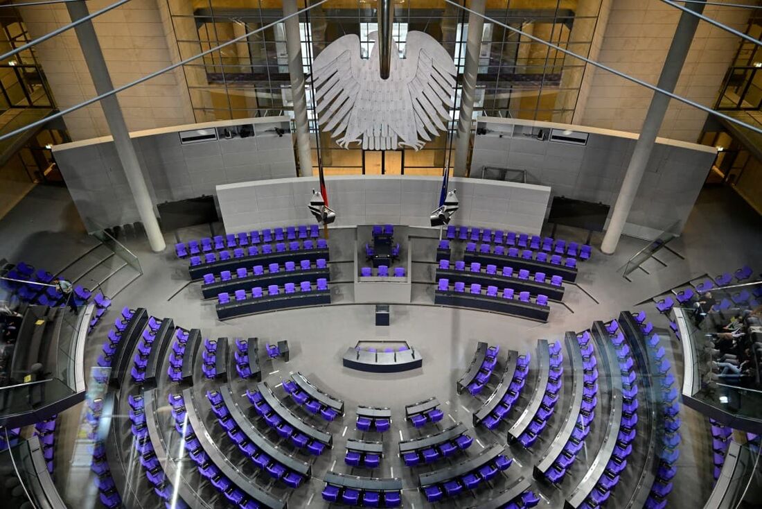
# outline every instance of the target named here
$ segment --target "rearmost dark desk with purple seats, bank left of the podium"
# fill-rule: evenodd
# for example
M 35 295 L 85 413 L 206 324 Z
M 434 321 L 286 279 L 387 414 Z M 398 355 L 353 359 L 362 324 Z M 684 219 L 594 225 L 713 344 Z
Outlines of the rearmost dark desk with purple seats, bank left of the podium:
M 293 240 L 290 243 L 261 244 L 260 246 L 239 247 L 219 253 L 206 253 L 201 256 L 191 256 L 188 274 L 191 279 L 202 279 L 204 274 L 219 274 L 223 270 L 235 272 L 244 267 L 257 265 L 269 266 L 271 263 L 283 265 L 286 262 L 301 263 L 303 259 L 317 263 L 318 259 L 328 260 L 328 243 L 324 239 L 316 242 L 305 240 L 304 243 Z

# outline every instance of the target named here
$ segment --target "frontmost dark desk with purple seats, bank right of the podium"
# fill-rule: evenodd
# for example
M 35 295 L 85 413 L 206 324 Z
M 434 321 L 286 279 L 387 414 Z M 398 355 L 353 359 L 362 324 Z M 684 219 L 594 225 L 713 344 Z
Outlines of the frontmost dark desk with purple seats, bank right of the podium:
M 547 321 L 550 314 L 547 295 L 537 295 L 535 301 L 530 300 L 529 292 L 519 292 L 514 298 L 513 288 L 488 286 L 482 293 L 482 285 L 472 283 L 466 292 L 466 283 L 456 281 L 450 287 L 449 279 L 440 279 L 434 292 L 434 304 L 455 306 L 457 308 L 472 308 L 495 313 L 511 314 L 532 320 Z

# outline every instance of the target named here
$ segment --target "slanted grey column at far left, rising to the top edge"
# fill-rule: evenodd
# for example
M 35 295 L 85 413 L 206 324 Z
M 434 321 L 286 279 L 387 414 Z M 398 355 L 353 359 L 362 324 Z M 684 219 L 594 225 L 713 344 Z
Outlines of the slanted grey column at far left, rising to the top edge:
M 72 21 L 85 18 L 89 14 L 85 2 L 69 2 L 66 4 L 66 8 L 69 10 L 69 16 L 72 18 Z M 101 95 L 114 90 L 114 85 L 111 83 L 111 77 L 106 67 L 106 60 L 104 60 L 92 22 L 86 21 L 75 27 L 74 30 L 77 33 L 79 45 L 82 47 L 82 53 L 85 54 L 85 62 L 88 64 L 90 76 L 95 85 L 95 92 Z M 124 123 L 124 116 L 119 106 L 119 101 L 117 101 L 117 96 L 110 95 L 107 98 L 101 99 L 101 108 L 103 108 L 104 115 L 106 116 L 111 137 L 114 138 L 117 156 L 119 156 L 127 183 L 130 185 L 130 190 L 133 192 L 140 221 L 146 229 L 151 249 L 156 252 L 163 251 L 167 245 L 164 242 L 162 230 L 158 227 L 146 179 L 143 176 L 142 169 L 140 169 L 138 156 L 135 153 L 133 141 L 130 140 L 130 132 Z

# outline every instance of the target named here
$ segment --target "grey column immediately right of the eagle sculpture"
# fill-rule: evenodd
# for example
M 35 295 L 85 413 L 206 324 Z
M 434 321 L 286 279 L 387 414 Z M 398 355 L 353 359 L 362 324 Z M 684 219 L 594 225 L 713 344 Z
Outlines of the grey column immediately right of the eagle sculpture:
M 484 14 L 485 0 L 472 0 L 471 9 Z M 454 175 L 466 176 L 471 143 L 471 118 L 474 111 L 476 76 L 479 74 L 479 53 L 482 50 L 484 18 L 469 12 L 469 33 L 466 39 L 466 63 L 463 66 L 463 90 L 460 92 L 460 114 L 458 119 L 458 138 L 455 145 Z

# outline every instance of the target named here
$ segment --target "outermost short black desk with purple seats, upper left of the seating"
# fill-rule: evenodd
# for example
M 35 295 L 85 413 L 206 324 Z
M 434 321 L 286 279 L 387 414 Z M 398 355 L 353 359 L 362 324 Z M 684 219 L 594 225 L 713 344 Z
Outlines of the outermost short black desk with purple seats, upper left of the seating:
M 158 322 L 150 317 L 152 329 L 158 329 Z M 120 317 L 114 321 L 114 328 L 108 331 L 107 340 L 103 345 L 103 355 L 98 357 L 98 366 L 110 368 L 109 374 L 97 372 L 98 382 L 109 382 L 119 388 L 132 358 L 135 346 L 140 339 L 142 330 L 149 324 L 148 313 L 144 308 L 130 310 L 124 308 Z

